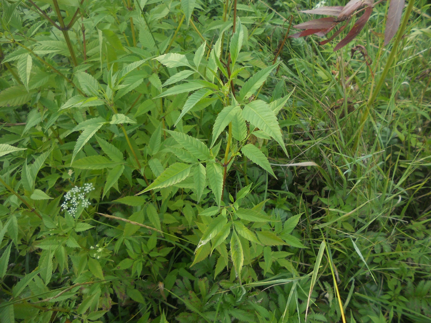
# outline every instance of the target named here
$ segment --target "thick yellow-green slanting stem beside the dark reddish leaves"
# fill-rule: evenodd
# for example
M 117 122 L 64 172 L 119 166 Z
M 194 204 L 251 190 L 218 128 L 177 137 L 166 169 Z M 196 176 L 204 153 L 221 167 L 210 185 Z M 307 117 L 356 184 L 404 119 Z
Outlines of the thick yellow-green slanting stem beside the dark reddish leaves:
M 386 76 L 387 76 L 387 73 L 389 72 L 389 69 L 395 63 L 395 54 L 397 53 L 397 47 L 398 47 L 398 44 L 400 43 L 400 41 L 403 37 L 404 31 L 406 31 L 407 22 L 409 22 L 410 14 L 412 12 L 414 3 L 415 3 L 415 0 L 409 0 L 409 4 L 407 5 L 406 12 L 404 13 L 403 22 L 401 23 L 400 30 L 398 31 L 397 37 L 395 38 L 395 41 L 394 41 L 394 45 L 392 46 L 392 50 L 390 51 L 390 54 L 387 58 L 387 62 L 386 62 L 386 65 L 384 66 L 384 70 L 381 73 L 381 76 L 378 80 L 378 83 L 377 83 L 375 89 L 374 90 L 371 89 L 371 93 L 370 93 L 370 96 L 369 96 L 369 99 L 367 102 L 367 107 L 365 109 L 364 114 L 362 115 L 361 123 L 359 125 L 358 136 L 356 137 L 356 141 L 355 141 L 355 144 L 353 146 L 354 150 L 356 150 L 356 148 L 359 144 L 359 139 L 362 136 L 362 130 L 364 129 L 365 121 L 367 121 L 367 118 L 369 116 L 370 108 L 374 104 L 375 99 L 377 98 L 378 93 L 380 92 L 381 87 L 383 86 L 383 83 L 386 79 Z

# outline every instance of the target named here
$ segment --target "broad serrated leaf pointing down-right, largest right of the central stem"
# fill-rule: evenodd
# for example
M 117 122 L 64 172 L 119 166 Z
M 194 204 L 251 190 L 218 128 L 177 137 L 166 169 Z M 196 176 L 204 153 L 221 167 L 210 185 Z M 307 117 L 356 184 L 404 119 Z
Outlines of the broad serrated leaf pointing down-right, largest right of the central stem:
M 248 122 L 274 138 L 287 155 L 283 137 L 281 136 L 280 125 L 278 124 L 274 112 L 269 109 L 267 103 L 262 100 L 250 102 L 244 107 L 242 115 Z

